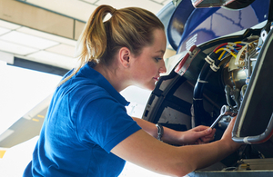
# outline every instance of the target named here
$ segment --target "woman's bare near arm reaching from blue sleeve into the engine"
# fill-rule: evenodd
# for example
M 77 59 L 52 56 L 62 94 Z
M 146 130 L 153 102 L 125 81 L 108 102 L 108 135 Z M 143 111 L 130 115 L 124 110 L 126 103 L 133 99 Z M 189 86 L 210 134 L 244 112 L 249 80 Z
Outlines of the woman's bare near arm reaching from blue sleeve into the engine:
M 238 149 L 239 144 L 231 140 L 234 120 L 229 123 L 222 139 L 214 143 L 176 147 L 139 130 L 118 143 L 111 152 L 153 172 L 184 176 L 218 162 Z

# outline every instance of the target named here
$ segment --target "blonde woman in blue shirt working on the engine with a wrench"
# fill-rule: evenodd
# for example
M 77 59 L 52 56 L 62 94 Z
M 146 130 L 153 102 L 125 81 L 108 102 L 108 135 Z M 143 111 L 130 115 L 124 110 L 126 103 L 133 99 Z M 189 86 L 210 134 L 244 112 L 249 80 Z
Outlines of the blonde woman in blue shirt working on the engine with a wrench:
M 136 7 L 98 6 L 77 44 L 80 64 L 56 89 L 25 176 L 112 177 L 125 161 L 182 176 L 234 152 L 234 121 L 220 141 L 208 143 L 215 129 L 176 132 L 159 126 L 157 134 L 155 124 L 126 114 L 128 103 L 119 92 L 129 85 L 155 88 L 166 72 L 166 44 L 156 15 Z

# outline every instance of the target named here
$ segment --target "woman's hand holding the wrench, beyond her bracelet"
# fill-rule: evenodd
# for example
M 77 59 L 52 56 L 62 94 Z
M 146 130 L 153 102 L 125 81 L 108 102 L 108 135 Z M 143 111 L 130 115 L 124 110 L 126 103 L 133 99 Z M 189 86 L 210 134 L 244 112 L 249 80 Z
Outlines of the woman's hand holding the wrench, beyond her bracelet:
M 180 134 L 180 144 L 201 144 L 214 140 L 216 129 L 200 125 Z

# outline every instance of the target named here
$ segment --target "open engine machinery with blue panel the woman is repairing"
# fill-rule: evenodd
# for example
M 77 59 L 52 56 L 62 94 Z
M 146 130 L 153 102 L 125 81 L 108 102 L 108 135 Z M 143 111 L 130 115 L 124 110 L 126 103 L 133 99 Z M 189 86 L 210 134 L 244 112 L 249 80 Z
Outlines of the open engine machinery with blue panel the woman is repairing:
M 238 115 L 238 152 L 189 176 L 273 176 L 272 5 L 182 0 L 167 7 L 172 15 L 158 15 L 177 54 L 166 59 L 143 119 L 177 131 L 213 126 L 219 140 Z

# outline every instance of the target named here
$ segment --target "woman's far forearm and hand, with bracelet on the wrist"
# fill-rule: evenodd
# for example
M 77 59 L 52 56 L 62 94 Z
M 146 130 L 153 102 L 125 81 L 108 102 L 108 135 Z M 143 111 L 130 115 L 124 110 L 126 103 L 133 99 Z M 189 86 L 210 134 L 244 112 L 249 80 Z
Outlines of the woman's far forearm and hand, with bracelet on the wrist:
M 147 133 L 157 138 L 157 127 L 155 123 L 133 117 L 136 123 Z M 214 139 L 216 129 L 207 126 L 197 126 L 186 132 L 177 132 L 175 130 L 164 127 L 162 141 L 170 144 L 184 145 L 196 143 L 208 143 Z

